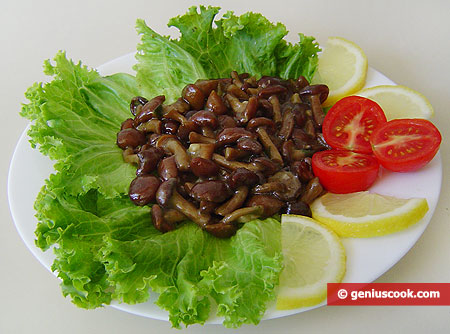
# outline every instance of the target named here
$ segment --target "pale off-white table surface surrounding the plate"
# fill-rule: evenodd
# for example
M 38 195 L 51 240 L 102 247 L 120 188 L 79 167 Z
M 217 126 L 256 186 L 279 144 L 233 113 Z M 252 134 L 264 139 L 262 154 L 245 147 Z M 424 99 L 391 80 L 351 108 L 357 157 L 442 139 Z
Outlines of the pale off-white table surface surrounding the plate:
M 399 84 L 426 95 L 443 135 L 443 185 L 432 221 L 410 252 L 377 282 L 450 282 L 450 2 L 429 1 L 2 1 L 0 6 L 1 159 L 0 333 L 174 333 L 168 322 L 110 307 L 84 310 L 62 297 L 59 282 L 28 251 L 12 221 L 7 173 L 15 144 L 27 125 L 20 118 L 23 93 L 58 50 L 96 67 L 135 50 L 134 25 L 173 33 L 168 19 L 193 4 L 219 5 L 240 14 L 263 13 L 292 33 L 321 43 L 342 36 L 359 44 L 369 64 Z M 32 166 L 30 166 L 32 168 Z M 229 333 L 221 326 L 191 326 L 184 333 Z M 450 307 L 322 307 L 244 326 L 237 333 L 448 333 Z

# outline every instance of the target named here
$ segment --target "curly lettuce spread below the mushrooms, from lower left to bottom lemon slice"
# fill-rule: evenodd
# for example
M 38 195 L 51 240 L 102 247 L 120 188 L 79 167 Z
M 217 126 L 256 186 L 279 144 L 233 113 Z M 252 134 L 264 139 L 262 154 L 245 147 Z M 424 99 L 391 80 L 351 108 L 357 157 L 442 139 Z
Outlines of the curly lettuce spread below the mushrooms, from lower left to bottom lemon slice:
M 55 246 L 52 270 L 74 304 L 135 304 L 153 291 L 175 327 L 204 323 L 212 309 L 227 327 L 260 321 L 282 267 L 277 220 L 246 223 L 225 240 L 191 222 L 161 234 L 148 208 L 97 190 L 69 195 L 65 178 L 52 175 L 39 195 L 36 243 Z

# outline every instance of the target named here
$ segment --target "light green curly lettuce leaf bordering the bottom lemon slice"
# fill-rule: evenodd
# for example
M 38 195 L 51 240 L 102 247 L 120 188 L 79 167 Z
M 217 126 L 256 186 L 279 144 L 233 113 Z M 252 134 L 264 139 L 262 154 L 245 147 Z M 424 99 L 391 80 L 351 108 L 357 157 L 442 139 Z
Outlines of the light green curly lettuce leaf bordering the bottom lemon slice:
M 258 324 L 275 299 L 282 270 L 281 225 L 275 219 L 246 223 L 229 247 L 217 248 L 213 266 L 201 274 L 226 327 Z

